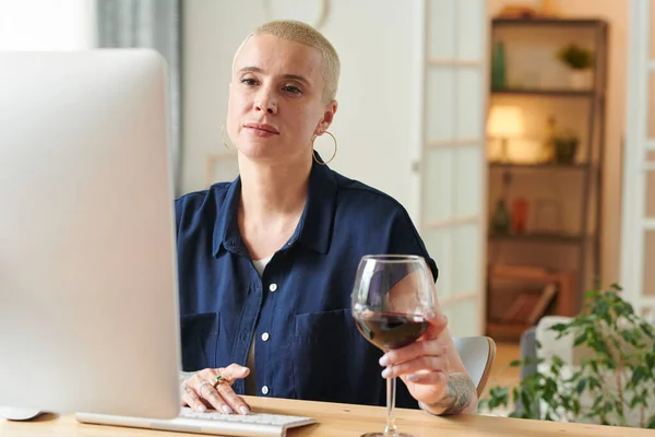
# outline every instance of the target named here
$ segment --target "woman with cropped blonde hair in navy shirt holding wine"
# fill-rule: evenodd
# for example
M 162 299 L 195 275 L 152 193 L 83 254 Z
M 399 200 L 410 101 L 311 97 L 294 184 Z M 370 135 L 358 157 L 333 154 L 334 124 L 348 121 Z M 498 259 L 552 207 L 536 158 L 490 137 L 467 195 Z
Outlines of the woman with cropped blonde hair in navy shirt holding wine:
M 438 270 L 400 203 L 313 151 L 338 72 L 332 45 L 298 22 L 262 25 L 235 55 L 226 125 L 240 177 L 176 201 L 183 402 L 198 411 L 248 413 L 239 394 L 384 405 L 383 378 L 400 376 L 398 406 L 475 412 L 439 310 L 382 357 L 349 316 L 362 256 L 419 255 Z

